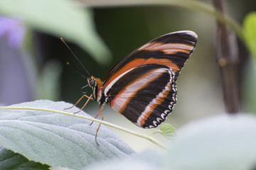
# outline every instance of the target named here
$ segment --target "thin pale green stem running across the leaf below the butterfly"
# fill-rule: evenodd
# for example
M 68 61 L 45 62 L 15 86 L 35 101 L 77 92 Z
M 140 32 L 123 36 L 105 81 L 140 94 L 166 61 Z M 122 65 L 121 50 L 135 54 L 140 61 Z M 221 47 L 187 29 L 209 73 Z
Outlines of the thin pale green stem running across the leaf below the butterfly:
M 136 135 L 137 137 L 142 137 L 146 140 L 149 140 L 149 141 L 153 142 L 154 144 L 158 145 L 159 147 L 165 148 L 164 145 L 161 142 L 159 142 L 158 140 L 156 140 L 154 137 L 151 137 L 149 135 L 144 135 L 144 134 L 135 132 L 133 130 L 129 130 L 127 128 L 121 127 L 119 125 L 114 125 L 113 123 L 108 123 L 106 121 L 98 120 L 98 119 L 95 119 L 95 118 L 92 118 L 92 117 L 89 117 L 89 116 L 85 116 L 85 115 L 68 113 L 68 112 L 65 112 L 65 111 L 57 111 L 57 110 L 48 109 L 48 108 L 0 106 L 0 109 L 1 108 L 2 109 L 22 109 L 22 110 L 33 110 L 33 111 L 46 111 L 46 112 L 60 113 L 60 114 L 63 114 L 63 115 L 71 115 L 71 116 L 75 116 L 77 118 L 84 118 L 84 119 L 87 119 L 87 120 L 92 120 L 92 121 L 97 122 L 97 123 L 102 123 L 103 125 L 107 125 L 107 126 L 110 126 L 112 128 L 118 129 L 118 130 L 122 130 L 122 131 L 127 132 L 127 133 L 132 134 L 132 135 Z

